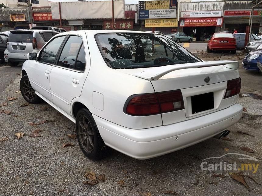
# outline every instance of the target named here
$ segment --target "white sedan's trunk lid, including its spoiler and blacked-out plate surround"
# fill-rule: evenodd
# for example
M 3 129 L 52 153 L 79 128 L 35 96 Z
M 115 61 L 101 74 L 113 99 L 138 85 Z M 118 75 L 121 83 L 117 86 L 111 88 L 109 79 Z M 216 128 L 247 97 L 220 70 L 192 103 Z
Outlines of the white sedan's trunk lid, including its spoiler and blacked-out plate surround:
M 118 71 L 150 80 L 155 92 L 181 89 L 185 109 L 162 113 L 163 125 L 168 125 L 216 112 L 235 103 L 236 96 L 226 99 L 224 96 L 227 81 L 239 77 L 237 69 L 236 61 L 209 61 Z

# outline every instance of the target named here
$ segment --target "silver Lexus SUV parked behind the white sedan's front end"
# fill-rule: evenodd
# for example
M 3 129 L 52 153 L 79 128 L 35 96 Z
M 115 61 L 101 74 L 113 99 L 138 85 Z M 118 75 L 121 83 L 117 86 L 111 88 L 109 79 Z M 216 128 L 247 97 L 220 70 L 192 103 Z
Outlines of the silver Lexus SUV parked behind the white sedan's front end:
M 7 38 L 4 52 L 5 62 L 10 66 L 17 66 L 27 60 L 27 54 L 38 53 L 44 44 L 54 35 L 49 30 L 12 30 Z

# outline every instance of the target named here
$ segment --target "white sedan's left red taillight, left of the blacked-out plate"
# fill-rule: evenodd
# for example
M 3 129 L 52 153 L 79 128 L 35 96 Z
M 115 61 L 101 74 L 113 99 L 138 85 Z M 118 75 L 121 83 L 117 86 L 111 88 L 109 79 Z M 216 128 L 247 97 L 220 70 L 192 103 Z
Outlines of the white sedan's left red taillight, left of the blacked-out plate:
M 133 95 L 126 103 L 124 111 L 135 116 L 154 115 L 184 109 L 180 90 Z

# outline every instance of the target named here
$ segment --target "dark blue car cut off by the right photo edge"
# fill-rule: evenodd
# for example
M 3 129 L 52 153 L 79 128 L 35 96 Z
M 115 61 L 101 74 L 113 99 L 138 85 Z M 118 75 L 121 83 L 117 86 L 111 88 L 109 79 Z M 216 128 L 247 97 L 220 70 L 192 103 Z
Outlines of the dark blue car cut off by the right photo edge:
M 246 70 L 260 70 L 257 63 L 262 63 L 262 50 L 254 50 L 248 53 L 243 59 L 242 65 Z

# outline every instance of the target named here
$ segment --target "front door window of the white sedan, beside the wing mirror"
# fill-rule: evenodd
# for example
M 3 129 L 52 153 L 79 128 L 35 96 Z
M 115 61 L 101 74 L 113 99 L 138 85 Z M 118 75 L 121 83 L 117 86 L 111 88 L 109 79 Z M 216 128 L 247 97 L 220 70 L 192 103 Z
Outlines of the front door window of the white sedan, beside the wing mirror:
M 48 43 L 48 45 L 45 46 L 44 49 L 41 51 L 38 61 L 54 64 L 56 54 L 64 38 L 65 36 L 56 37 L 54 40 Z

